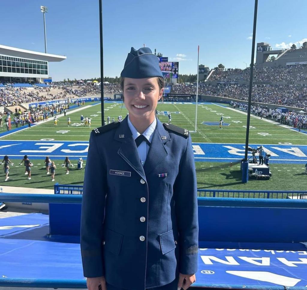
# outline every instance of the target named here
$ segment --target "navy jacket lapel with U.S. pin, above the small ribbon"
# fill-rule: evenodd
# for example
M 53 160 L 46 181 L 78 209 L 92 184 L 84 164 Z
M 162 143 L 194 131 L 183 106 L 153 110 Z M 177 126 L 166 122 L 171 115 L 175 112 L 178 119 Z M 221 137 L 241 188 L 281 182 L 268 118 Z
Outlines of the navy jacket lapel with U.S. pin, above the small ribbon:
M 145 174 L 149 174 L 165 157 L 167 150 L 165 143 L 169 141 L 169 133 L 164 129 L 162 123 L 157 119 L 157 127 L 153 133 L 153 139 L 144 164 Z

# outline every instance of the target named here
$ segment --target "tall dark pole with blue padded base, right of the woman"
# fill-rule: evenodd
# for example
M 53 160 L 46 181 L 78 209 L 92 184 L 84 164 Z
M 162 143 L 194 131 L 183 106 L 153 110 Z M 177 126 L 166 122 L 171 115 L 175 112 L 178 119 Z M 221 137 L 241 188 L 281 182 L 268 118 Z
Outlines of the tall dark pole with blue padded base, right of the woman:
M 243 183 L 247 182 L 247 175 L 248 175 L 247 148 L 248 148 L 250 119 L 251 119 L 251 93 L 253 89 L 253 70 L 254 70 L 254 57 L 255 57 L 257 8 L 258 8 L 258 0 L 255 0 L 253 42 L 252 42 L 252 48 L 251 48 L 251 73 L 250 73 L 250 85 L 249 85 L 249 92 L 248 92 L 248 107 L 247 107 L 247 121 L 246 121 L 245 155 L 244 155 L 244 164 L 242 167 L 242 182 Z

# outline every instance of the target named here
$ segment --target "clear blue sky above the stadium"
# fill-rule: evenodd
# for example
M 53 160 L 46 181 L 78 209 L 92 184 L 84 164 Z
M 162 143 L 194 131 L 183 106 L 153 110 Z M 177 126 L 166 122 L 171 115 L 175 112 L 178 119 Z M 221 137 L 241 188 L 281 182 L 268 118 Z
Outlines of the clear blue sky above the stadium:
M 53 80 L 99 77 L 98 0 L 1 1 L 0 44 L 45 52 L 41 5 L 49 9 L 47 51 L 67 56 L 49 63 Z M 306 41 L 306 10 L 306 0 L 259 0 L 256 42 Z M 196 74 L 197 45 L 200 64 L 245 68 L 253 15 L 254 0 L 103 0 L 104 76 L 119 76 L 131 46 L 143 44 L 179 61 L 180 74 Z

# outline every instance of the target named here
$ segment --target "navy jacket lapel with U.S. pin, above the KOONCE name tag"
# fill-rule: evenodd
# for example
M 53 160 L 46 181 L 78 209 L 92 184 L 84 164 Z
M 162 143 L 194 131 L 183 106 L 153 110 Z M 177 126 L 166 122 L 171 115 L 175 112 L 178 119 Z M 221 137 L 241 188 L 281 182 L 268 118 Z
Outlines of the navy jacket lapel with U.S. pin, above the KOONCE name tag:
M 138 154 L 138 149 L 136 147 L 133 135 L 128 126 L 128 121 L 126 117 L 122 120 L 120 126 L 115 131 L 114 139 L 122 142 L 121 147 L 119 148 L 118 154 L 144 179 L 145 172 L 140 161 Z M 147 159 L 146 159 L 147 160 Z

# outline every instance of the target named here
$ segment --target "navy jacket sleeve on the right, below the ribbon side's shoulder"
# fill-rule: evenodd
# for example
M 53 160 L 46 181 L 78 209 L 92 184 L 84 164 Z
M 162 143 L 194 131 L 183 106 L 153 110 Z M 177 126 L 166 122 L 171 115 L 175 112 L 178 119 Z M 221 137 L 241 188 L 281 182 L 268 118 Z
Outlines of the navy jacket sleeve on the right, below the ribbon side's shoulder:
M 198 205 L 191 136 L 181 157 L 174 194 L 179 233 L 179 273 L 194 274 L 197 272 L 198 256 Z

